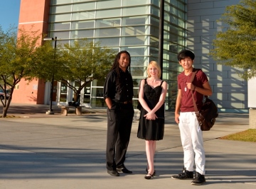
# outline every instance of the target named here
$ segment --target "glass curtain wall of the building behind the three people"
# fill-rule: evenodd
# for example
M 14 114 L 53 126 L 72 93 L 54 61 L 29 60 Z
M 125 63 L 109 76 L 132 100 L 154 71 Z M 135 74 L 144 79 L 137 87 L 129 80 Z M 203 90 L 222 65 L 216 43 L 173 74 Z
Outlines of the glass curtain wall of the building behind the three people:
M 57 36 L 58 44 L 87 38 L 117 52 L 127 50 L 132 57 L 135 108 L 146 66 L 151 60 L 158 61 L 160 11 L 159 0 L 52 0 L 49 37 Z M 169 84 L 166 109 L 174 108 L 176 76 L 181 71 L 176 55 L 185 46 L 186 0 L 164 1 L 163 79 Z M 81 103 L 105 107 L 103 84 L 92 81 L 81 94 Z

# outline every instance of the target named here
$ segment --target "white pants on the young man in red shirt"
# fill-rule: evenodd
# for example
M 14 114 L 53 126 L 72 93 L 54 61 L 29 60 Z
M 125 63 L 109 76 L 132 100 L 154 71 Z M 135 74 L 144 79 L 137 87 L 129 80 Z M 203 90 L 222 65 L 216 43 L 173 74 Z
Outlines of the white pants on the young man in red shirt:
M 194 112 L 180 113 L 178 127 L 181 132 L 181 143 L 184 151 L 184 167 L 205 175 L 206 155 L 203 149 L 203 133 Z

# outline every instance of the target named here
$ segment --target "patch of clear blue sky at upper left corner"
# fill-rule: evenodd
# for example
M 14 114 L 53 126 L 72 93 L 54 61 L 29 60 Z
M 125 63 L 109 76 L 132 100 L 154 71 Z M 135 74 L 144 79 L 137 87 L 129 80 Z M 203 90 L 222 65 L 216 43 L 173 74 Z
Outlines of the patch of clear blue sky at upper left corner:
M 10 25 L 18 27 L 18 16 L 21 0 L 0 0 L 0 25 L 7 30 Z

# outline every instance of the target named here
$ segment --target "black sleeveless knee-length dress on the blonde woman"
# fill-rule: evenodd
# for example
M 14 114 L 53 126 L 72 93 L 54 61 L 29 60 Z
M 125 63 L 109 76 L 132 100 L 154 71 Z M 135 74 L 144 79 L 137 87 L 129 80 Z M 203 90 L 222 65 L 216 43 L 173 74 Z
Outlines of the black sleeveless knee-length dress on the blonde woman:
M 152 110 L 154 106 L 159 102 L 159 98 L 161 96 L 161 85 L 164 81 L 161 82 L 159 86 L 155 88 L 151 88 L 146 83 L 144 85 L 144 100 L 146 101 L 149 108 Z M 142 107 L 140 118 L 139 118 L 139 127 L 137 132 L 137 137 L 139 139 L 146 140 L 160 140 L 164 137 L 164 104 L 161 105 L 161 108 L 156 111 L 156 116 L 158 117 L 156 120 L 146 120 L 144 115 L 146 115 L 147 111 Z

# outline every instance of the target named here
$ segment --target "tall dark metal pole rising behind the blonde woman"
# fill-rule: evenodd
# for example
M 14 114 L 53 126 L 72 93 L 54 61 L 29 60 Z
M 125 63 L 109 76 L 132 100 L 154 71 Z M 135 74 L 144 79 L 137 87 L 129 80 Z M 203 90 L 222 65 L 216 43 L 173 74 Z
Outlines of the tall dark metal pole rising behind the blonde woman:
M 159 65 L 161 67 L 161 79 L 163 77 L 163 43 L 164 43 L 164 0 L 160 0 L 159 16 Z

